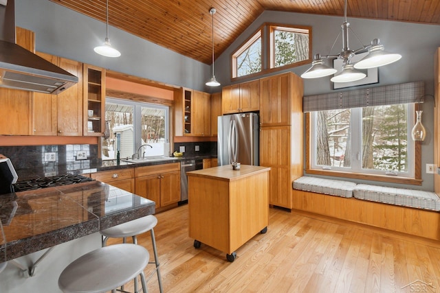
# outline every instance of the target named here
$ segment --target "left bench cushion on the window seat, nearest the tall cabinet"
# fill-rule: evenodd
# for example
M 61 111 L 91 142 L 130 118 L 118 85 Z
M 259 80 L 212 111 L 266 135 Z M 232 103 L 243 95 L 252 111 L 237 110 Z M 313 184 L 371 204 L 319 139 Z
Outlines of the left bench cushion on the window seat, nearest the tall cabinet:
M 343 198 L 352 198 L 353 189 L 356 183 L 343 180 L 331 180 L 303 176 L 294 180 L 294 189 L 316 192 L 317 194 L 329 194 L 331 196 L 342 196 Z

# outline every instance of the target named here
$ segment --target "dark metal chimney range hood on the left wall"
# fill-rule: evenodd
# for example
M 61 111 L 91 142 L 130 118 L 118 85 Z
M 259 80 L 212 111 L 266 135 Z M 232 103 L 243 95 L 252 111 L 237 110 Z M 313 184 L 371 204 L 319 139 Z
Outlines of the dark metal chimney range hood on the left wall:
M 76 83 L 75 75 L 15 43 L 14 0 L 0 0 L 0 86 L 57 95 Z

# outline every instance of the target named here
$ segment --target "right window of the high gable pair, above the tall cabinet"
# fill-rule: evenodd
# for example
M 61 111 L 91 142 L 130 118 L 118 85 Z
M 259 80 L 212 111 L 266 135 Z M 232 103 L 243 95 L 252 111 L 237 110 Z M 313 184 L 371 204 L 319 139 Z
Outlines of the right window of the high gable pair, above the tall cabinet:
M 308 62 L 309 31 L 309 28 L 270 26 L 270 68 Z

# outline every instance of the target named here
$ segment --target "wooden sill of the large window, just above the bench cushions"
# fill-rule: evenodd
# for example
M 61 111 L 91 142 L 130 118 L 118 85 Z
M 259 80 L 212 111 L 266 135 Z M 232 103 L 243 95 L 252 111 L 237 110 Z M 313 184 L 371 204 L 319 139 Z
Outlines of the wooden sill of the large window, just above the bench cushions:
M 313 175 L 371 180 L 371 181 L 380 181 L 380 182 L 398 183 L 398 184 L 407 184 L 407 185 L 421 185 L 423 181 L 421 179 L 408 178 L 408 177 L 370 175 L 370 174 L 339 172 L 339 171 L 329 171 L 329 170 L 320 170 L 320 169 L 306 169 L 305 172 L 306 174 L 313 174 Z

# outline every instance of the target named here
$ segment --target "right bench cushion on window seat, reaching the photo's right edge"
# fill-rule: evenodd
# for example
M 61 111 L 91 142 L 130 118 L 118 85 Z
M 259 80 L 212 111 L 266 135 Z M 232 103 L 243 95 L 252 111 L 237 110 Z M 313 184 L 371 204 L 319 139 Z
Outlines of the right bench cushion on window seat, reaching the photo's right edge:
M 440 211 L 439 196 L 429 191 L 358 184 L 353 195 L 361 200 Z

